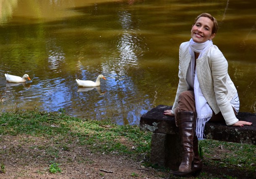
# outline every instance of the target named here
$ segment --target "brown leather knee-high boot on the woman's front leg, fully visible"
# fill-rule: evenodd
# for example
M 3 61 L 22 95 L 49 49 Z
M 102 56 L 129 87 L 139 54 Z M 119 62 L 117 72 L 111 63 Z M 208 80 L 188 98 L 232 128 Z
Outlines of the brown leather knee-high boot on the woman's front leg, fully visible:
M 178 127 L 183 148 L 182 161 L 178 171 L 171 171 L 178 176 L 187 176 L 193 173 L 191 170 L 194 160 L 193 138 L 196 124 L 195 112 L 178 112 Z

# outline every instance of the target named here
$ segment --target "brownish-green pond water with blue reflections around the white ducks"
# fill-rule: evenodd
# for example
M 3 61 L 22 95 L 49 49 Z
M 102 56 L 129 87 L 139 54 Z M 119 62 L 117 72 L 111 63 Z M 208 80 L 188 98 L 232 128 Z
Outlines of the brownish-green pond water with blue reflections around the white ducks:
M 0 0 L 0 111 L 42 109 L 120 125 L 172 105 L 194 18 L 219 21 L 240 112 L 256 113 L 254 0 Z M 31 78 L 10 84 L 5 73 Z M 100 88 L 78 88 L 76 78 Z

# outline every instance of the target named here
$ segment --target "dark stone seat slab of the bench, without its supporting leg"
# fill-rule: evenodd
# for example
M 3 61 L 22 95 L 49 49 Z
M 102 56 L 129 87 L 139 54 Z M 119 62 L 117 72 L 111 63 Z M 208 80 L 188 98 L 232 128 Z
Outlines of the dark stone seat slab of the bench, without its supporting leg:
M 163 134 L 178 134 L 175 119 L 163 113 L 172 106 L 159 105 L 141 116 L 140 129 Z M 206 123 L 204 134 L 206 139 L 256 145 L 256 114 L 239 112 L 237 118 L 253 122 L 251 126 L 231 127 L 225 122 Z

